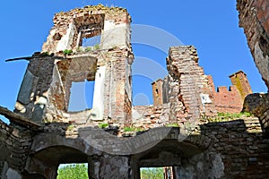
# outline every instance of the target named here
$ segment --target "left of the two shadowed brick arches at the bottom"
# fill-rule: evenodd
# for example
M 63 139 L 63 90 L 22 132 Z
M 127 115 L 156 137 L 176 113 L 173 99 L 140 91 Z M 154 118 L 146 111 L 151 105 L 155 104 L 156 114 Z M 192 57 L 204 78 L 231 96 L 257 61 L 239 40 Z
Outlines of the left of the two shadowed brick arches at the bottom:
M 40 133 L 34 137 L 24 173 L 29 177 L 56 178 L 60 164 L 88 163 L 89 151 L 93 149 L 81 138 L 67 139 L 55 132 Z

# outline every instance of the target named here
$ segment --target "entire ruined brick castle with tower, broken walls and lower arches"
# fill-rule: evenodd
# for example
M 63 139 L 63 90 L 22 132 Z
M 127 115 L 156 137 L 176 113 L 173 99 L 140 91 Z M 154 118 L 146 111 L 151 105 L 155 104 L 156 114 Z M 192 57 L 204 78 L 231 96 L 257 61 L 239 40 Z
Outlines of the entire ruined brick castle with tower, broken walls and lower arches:
M 269 88 L 269 3 L 238 0 L 237 8 Z M 152 82 L 154 105 L 133 107 L 126 9 L 85 6 L 53 21 L 40 53 L 7 60 L 29 64 L 14 111 L 0 107 L 11 121 L 0 121 L 1 178 L 56 178 L 68 163 L 88 163 L 89 178 L 140 178 L 139 168 L 149 166 L 171 166 L 174 178 L 269 178 L 269 98 L 251 94 L 244 72 L 230 75 L 229 90 L 215 91 L 195 47 L 170 47 L 169 74 Z M 97 36 L 99 45 L 82 47 Z M 70 112 L 79 81 L 95 81 L 93 104 Z M 242 110 L 256 117 L 211 121 L 217 112 Z

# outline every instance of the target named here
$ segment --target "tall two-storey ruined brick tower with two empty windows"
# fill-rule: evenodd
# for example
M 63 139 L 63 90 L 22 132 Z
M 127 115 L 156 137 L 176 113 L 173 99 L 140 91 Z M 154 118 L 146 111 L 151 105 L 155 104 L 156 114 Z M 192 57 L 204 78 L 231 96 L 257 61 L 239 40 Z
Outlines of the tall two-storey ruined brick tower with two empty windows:
M 125 9 L 103 5 L 56 13 L 42 53 L 30 58 L 16 112 L 33 121 L 131 120 L 131 18 Z M 100 38 L 100 41 L 92 39 Z M 88 41 L 88 44 L 87 44 Z M 70 113 L 74 82 L 95 81 L 91 109 Z

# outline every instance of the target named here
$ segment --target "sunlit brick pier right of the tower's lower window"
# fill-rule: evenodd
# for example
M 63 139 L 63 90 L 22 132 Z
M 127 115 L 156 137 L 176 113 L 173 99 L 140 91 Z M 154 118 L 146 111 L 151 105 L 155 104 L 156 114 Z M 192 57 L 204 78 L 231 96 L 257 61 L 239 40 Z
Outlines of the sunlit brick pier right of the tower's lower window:
M 104 116 L 121 119 L 120 124 L 131 124 L 132 81 L 131 65 L 133 55 L 128 49 L 114 48 L 106 58 L 106 79 L 104 89 Z

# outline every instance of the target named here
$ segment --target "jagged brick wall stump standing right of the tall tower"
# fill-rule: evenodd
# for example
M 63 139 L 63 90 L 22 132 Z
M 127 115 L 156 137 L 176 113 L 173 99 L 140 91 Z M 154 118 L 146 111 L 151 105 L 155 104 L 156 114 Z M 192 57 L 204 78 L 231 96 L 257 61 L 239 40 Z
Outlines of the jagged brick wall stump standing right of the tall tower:
M 200 123 L 201 117 L 216 115 L 213 81 L 204 75 L 203 68 L 199 66 L 195 47 L 170 47 L 167 68 L 169 74 L 165 79 L 152 83 L 152 95 L 154 107 L 161 108 L 162 112 L 169 108 L 169 113 L 160 113 L 169 114 L 169 119 L 163 121 L 163 116 L 157 115 L 155 123 L 163 121 L 163 125 L 183 126 L 188 121 L 195 125 Z M 146 124 L 154 124 L 154 107 L 145 107 L 144 112 L 143 107 L 139 107 L 141 114 L 149 114 L 146 110 L 152 110 L 152 117 L 143 115 L 144 119 L 148 119 Z

